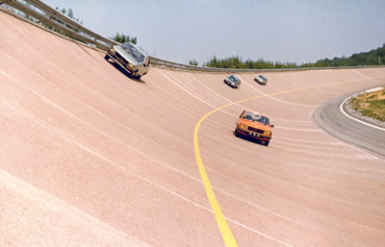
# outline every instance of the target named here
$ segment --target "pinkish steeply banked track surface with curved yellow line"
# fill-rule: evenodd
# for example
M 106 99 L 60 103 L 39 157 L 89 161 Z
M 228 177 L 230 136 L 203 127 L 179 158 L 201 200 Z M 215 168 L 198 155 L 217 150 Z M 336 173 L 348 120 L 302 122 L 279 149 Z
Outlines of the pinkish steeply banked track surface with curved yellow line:
M 383 246 L 383 157 L 313 113 L 385 69 L 264 75 L 134 80 L 0 12 L 0 245 Z M 269 147 L 234 137 L 243 109 L 271 117 Z

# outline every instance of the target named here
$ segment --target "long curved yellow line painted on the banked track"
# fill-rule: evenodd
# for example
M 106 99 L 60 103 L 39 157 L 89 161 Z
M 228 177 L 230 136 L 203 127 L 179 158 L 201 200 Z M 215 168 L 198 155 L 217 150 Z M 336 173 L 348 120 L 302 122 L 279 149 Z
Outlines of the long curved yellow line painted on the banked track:
M 385 76 L 373 77 L 373 78 L 370 78 L 370 79 L 376 79 L 376 78 L 382 78 L 382 77 L 385 77 Z M 367 78 L 367 79 L 369 79 L 369 78 Z M 221 207 L 219 206 L 217 198 L 215 197 L 215 194 L 214 194 L 214 191 L 213 191 L 213 187 L 211 186 L 209 177 L 207 176 L 205 166 L 203 165 L 203 161 L 202 161 L 202 157 L 201 157 L 201 151 L 199 149 L 199 142 L 198 142 L 198 132 L 199 132 L 199 128 L 200 128 L 201 123 L 203 122 L 203 120 L 205 120 L 212 113 L 214 113 L 214 112 L 216 112 L 216 111 L 218 111 L 220 109 L 223 109 L 225 107 L 228 107 L 230 105 L 233 105 L 233 104 L 237 104 L 237 103 L 241 103 L 241 102 L 245 102 L 245 101 L 249 101 L 249 100 L 253 100 L 253 99 L 257 99 L 257 98 L 263 98 L 263 97 L 267 97 L 267 96 L 273 96 L 273 95 L 278 95 L 278 94 L 290 93 L 290 92 L 301 91 L 301 90 L 306 90 L 306 89 L 311 89 L 311 88 L 325 87 L 325 86 L 342 84 L 342 83 L 348 83 L 348 82 L 353 82 L 353 81 L 360 81 L 360 80 L 361 79 L 350 80 L 350 81 L 334 82 L 334 83 L 317 85 L 317 86 L 310 86 L 310 87 L 303 87 L 303 88 L 297 88 L 297 89 L 292 89 L 292 90 L 287 90 L 287 91 L 282 91 L 282 92 L 276 92 L 276 93 L 271 93 L 271 94 L 264 94 L 264 95 L 259 95 L 259 96 L 252 97 L 252 98 L 247 98 L 247 99 L 239 100 L 239 101 L 236 101 L 236 102 L 233 102 L 233 103 L 229 103 L 229 104 L 223 105 L 221 107 L 218 107 L 217 109 L 214 109 L 214 110 L 210 111 L 209 113 L 207 113 L 204 117 L 202 117 L 198 121 L 197 126 L 195 127 L 195 131 L 194 131 L 195 157 L 197 159 L 197 163 L 198 163 L 198 167 L 199 167 L 199 172 L 201 173 L 201 177 L 202 177 L 203 184 L 205 186 L 207 197 L 209 198 L 209 202 L 210 202 L 211 208 L 213 209 L 215 218 L 217 220 L 217 224 L 219 226 L 219 229 L 220 229 L 220 231 L 222 233 L 223 240 L 225 241 L 227 247 L 234 247 L 234 246 L 238 246 L 238 245 L 237 245 L 237 242 L 235 241 L 233 233 L 230 230 L 229 225 L 227 224 L 226 218 L 225 218 L 225 216 L 222 213 Z

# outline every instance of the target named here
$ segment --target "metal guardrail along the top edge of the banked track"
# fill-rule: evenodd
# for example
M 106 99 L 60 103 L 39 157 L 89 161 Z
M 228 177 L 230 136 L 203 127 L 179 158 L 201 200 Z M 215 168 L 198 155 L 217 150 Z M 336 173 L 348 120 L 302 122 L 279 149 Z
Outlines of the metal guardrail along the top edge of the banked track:
M 27 5 L 17 0 L 0 0 L 0 4 L 6 4 L 17 10 L 24 12 L 25 14 L 32 16 L 33 18 L 43 22 L 49 26 L 54 27 L 62 31 L 65 35 L 70 35 L 79 40 L 82 40 L 88 44 L 95 45 L 104 49 L 109 49 L 113 45 L 120 45 L 120 43 L 107 39 L 97 33 L 92 32 L 81 26 L 79 23 L 63 15 L 61 12 L 49 7 L 40 0 L 25 0 L 35 8 L 39 9 L 45 14 L 41 14 L 36 10 L 29 8 Z M 65 25 L 72 29 L 60 24 L 59 22 L 52 20 L 52 18 L 60 20 Z M 196 72 L 209 72 L 209 73 L 256 73 L 256 72 L 283 72 L 283 71 L 301 71 L 301 70 L 325 70 L 325 69 L 360 69 L 360 68 L 378 68 L 385 66 L 361 66 L 361 67 L 324 67 L 324 68 L 294 68 L 294 69 L 220 69 L 210 67 L 198 67 L 193 65 L 185 65 L 180 63 L 174 63 L 153 56 L 150 57 L 150 64 L 152 66 L 158 66 L 165 69 L 181 70 L 181 71 L 196 71 Z

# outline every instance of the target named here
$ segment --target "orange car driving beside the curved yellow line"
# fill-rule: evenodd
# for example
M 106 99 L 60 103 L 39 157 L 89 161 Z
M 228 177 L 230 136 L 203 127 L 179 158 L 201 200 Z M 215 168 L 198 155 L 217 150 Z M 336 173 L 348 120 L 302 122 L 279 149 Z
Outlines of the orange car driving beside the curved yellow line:
M 271 130 L 273 127 L 266 115 L 244 110 L 235 124 L 234 135 L 236 137 L 239 137 L 239 135 L 252 137 L 263 141 L 263 144 L 268 146 L 273 135 Z

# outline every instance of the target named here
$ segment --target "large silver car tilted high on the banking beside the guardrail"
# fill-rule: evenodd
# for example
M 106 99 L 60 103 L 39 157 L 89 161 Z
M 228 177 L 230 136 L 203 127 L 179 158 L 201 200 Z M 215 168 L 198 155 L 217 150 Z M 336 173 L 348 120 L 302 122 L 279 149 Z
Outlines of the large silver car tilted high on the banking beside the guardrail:
M 105 56 L 106 60 L 109 58 L 112 58 L 136 79 L 140 79 L 150 70 L 149 56 L 132 43 L 113 46 Z

